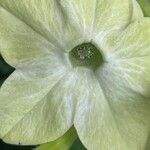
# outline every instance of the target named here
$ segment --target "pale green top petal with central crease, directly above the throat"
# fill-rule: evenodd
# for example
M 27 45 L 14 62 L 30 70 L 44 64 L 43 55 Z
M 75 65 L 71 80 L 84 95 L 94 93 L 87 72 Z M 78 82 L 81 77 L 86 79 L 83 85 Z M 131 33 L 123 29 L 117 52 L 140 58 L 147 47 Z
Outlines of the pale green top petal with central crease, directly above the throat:
M 86 40 L 124 28 L 133 13 L 130 0 L 61 0 L 61 5 L 66 16 L 84 33 Z

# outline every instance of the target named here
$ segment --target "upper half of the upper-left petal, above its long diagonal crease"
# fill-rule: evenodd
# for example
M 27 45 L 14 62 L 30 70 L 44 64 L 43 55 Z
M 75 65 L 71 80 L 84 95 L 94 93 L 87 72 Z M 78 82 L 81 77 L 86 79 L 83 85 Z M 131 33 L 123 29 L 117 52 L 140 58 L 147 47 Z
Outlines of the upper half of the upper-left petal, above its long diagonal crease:
M 81 38 L 69 24 L 58 0 L 0 0 L 0 6 L 56 47 L 64 47 L 64 41 L 76 42 Z

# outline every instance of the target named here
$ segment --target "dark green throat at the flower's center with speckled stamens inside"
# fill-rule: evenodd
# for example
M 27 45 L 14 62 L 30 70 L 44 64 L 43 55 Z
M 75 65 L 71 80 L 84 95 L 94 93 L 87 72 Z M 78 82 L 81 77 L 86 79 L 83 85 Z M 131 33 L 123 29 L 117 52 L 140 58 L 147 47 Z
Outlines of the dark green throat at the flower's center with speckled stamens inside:
M 88 67 L 96 70 L 103 62 L 103 56 L 92 43 L 83 43 L 69 52 L 73 67 Z

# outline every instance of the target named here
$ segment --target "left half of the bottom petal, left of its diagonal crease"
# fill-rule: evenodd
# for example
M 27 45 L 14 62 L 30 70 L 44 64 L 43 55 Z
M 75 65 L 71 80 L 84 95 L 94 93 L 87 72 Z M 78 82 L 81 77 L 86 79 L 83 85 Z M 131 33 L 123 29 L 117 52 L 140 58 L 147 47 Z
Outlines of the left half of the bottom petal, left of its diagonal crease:
M 80 140 L 88 150 L 127 150 L 98 80 L 89 72 L 81 78 L 74 121 Z

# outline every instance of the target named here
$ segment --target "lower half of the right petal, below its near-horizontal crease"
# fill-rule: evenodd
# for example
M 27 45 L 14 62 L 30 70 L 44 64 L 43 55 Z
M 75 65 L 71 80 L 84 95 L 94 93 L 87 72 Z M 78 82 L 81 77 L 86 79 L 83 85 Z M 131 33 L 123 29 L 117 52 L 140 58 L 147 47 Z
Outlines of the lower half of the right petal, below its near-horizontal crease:
M 150 55 L 120 59 L 111 64 L 110 67 L 113 66 L 114 75 L 118 76 L 118 79 L 123 77 L 128 90 L 147 97 L 150 100 Z M 114 66 L 116 66 L 116 69 Z

